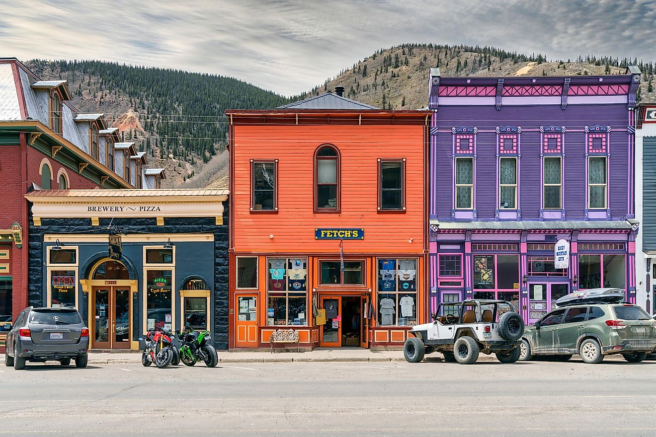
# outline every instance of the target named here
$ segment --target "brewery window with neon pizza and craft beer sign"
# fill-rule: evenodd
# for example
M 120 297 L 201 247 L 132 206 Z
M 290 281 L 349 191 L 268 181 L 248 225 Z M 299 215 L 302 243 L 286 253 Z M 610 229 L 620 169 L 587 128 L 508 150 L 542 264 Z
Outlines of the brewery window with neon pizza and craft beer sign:
M 173 329 L 173 306 L 171 285 L 173 284 L 172 270 L 146 271 L 146 328 Z

